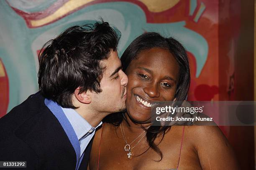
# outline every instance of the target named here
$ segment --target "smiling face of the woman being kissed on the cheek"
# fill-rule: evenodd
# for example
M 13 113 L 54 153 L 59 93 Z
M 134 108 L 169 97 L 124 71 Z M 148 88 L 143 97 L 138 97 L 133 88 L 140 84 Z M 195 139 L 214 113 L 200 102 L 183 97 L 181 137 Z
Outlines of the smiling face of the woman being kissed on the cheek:
M 169 50 L 154 47 L 139 52 L 126 74 L 126 110 L 136 122 L 150 122 L 154 102 L 174 100 L 179 65 Z

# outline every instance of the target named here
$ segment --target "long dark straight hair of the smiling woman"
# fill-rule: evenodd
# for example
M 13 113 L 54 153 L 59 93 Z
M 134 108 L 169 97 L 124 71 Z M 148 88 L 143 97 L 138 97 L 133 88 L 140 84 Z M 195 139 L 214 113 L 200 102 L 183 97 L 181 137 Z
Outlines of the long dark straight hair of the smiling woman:
M 187 92 L 189 90 L 190 84 L 190 71 L 189 71 L 189 60 L 187 57 L 187 52 L 184 47 L 174 38 L 164 38 L 159 33 L 148 32 L 137 37 L 133 42 L 127 47 L 125 52 L 121 57 L 123 71 L 125 72 L 130 65 L 132 60 L 136 60 L 138 54 L 143 50 L 149 50 L 154 47 L 160 47 L 165 50 L 169 50 L 175 57 L 179 64 L 179 80 L 177 83 L 177 90 L 174 98 L 177 101 L 183 101 L 187 97 Z M 120 125 L 120 123 L 125 119 L 123 113 L 114 113 L 105 117 L 104 121 L 112 123 L 113 125 Z M 154 143 L 158 135 L 162 135 L 161 141 L 164 138 L 165 133 L 170 129 L 170 126 L 150 126 L 146 130 L 147 142 L 150 148 L 159 153 L 161 159 L 163 154 L 161 150 L 157 147 L 159 144 Z

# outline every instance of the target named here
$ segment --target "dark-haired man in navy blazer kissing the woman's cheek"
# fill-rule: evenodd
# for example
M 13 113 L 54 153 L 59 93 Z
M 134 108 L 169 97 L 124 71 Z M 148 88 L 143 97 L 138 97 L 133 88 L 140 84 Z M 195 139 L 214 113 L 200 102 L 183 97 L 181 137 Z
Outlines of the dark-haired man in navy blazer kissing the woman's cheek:
M 128 78 L 118 41 L 102 22 L 73 26 L 44 45 L 40 91 L 0 119 L 0 161 L 26 161 L 27 169 L 87 167 L 95 127 L 125 109 Z

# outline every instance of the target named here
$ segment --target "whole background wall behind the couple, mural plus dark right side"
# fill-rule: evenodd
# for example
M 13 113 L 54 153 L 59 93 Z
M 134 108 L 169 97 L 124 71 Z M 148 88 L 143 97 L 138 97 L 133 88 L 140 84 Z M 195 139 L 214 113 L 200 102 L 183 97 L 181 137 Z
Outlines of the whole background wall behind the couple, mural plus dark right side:
M 156 31 L 179 40 L 190 61 L 188 100 L 253 100 L 253 2 L 2 0 L 0 117 L 38 90 L 42 45 L 69 26 L 93 23 L 99 17 L 122 32 L 119 56 L 143 32 Z M 253 127 L 220 128 L 242 168 L 251 169 Z

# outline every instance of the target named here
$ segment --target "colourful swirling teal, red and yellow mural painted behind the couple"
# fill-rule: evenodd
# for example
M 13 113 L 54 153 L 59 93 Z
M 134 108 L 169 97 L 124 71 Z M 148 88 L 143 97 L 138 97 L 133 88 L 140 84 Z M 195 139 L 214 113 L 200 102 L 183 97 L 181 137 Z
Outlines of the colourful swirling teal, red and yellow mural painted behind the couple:
M 225 1 L 227 7 L 230 3 Z M 143 32 L 179 40 L 190 60 L 188 100 L 218 100 L 218 5 L 218 0 L 0 1 L 0 117 L 38 90 L 42 45 L 69 26 L 93 23 L 100 17 L 122 33 L 119 56 Z M 229 54 L 232 61 L 232 51 Z M 224 74 L 230 77 L 226 93 L 231 95 L 230 63 L 230 71 Z

